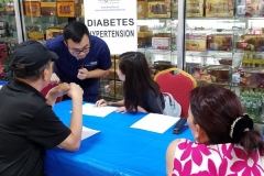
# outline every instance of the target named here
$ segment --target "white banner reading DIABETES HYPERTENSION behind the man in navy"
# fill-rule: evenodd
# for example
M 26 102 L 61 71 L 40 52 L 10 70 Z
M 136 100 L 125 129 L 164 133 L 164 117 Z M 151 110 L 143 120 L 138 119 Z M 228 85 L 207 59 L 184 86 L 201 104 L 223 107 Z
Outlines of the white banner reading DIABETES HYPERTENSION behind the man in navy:
M 84 0 L 91 35 L 107 42 L 111 54 L 138 50 L 135 0 Z

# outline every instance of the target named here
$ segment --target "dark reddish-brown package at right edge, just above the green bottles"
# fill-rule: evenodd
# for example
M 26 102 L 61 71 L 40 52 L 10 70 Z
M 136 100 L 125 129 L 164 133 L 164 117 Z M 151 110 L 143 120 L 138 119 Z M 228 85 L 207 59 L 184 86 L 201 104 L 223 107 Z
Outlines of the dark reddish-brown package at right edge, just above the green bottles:
M 249 87 L 264 87 L 264 73 L 263 68 L 241 68 L 240 70 L 240 86 Z

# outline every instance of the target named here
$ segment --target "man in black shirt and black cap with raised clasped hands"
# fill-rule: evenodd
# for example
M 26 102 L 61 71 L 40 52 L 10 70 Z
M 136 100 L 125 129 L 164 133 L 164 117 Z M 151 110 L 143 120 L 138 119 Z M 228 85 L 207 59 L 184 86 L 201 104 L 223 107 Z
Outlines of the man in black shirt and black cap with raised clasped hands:
M 0 89 L 0 175 L 45 175 L 45 148 L 79 148 L 82 89 L 61 84 L 46 98 L 40 92 L 50 82 L 52 61 L 57 58 L 35 41 L 21 43 L 12 55 L 14 79 Z M 65 94 L 73 99 L 69 128 L 52 110 L 56 98 Z

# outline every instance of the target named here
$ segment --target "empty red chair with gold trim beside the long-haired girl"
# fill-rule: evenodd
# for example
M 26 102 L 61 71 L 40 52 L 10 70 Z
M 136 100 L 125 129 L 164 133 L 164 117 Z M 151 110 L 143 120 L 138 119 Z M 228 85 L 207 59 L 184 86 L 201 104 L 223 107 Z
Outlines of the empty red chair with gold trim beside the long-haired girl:
M 162 92 L 169 92 L 180 105 L 180 117 L 187 117 L 189 94 L 197 86 L 193 76 L 179 68 L 168 68 L 157 73 L 154 80 L 160 85 Z

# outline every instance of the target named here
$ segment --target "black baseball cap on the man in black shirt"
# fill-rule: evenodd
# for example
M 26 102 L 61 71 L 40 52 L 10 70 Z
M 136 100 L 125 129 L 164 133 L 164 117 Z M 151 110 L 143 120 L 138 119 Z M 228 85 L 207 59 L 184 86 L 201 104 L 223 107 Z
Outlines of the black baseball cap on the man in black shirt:
M 58 55 L 48 51 L 43 44 L 36 41 L 25 41 L 14 48 L 11 56 L 10 69 L 36 70 L 44 66 L 48 61 L 58 59 Z M 24 66 L 18 68 L 15 65 Z

